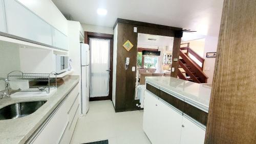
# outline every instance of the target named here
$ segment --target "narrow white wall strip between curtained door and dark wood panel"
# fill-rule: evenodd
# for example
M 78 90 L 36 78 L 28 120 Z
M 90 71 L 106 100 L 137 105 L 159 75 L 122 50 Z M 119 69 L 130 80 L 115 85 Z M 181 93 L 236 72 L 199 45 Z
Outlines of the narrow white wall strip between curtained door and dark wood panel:
M 116 64 L 117 64 L 117 31 L 118 25 L 114 29 L 114 40 L 113 40 L 113 81 L 112 81 L 112 101 L 114 107 L 116 106 Z

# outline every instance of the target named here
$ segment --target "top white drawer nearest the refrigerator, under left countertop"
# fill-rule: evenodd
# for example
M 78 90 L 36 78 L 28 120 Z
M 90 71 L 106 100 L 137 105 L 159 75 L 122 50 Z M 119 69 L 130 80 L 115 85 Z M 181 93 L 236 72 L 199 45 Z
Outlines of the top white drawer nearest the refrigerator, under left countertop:
M 72 105 L 74 104 L 74 101 L 75 101 L 76 99 L 78 99 L 78 98 L 77 98 L 77 97 L 78 97 L 78 94 L 79 94 L 79 87 L 78 87 L 78 85 L 76 85 L 76 86 L 74 87 L 74 89 L 69 93 L 68 98 L 67 98 L 67 100 L 66 100 L 66 104 L 65 104 L 65 105 L 66 105 L 66 107 L 67 107 L 67 112 L 70 111 Z

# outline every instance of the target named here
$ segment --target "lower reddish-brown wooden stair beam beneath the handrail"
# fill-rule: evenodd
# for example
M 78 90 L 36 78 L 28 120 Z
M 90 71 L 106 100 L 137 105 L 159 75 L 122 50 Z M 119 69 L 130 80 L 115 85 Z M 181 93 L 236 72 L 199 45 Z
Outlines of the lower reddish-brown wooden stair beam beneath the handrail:
M 185 61 L 186 66 L 190 67 L 192 71 L 196 73 L 196 75 L 199 77 L 200 83 L 207 83 L 208 77 L 203 73 L 203 70 L 201 69 L 198 64 L 196 64 L 194 61 L 192 61 L 185 53 L 183 53 L 180 50 L 180 57 Z M 182 63 L 182 62 L 181 62 Z M 182 63 L 183 64 L 183 63 Z M 182 66 L 182 65 L 181 65 Z M 185 65 L 184 65 L 185 66 Z M 185 66 L 185 67 L 186 67 Z M 183 68 L 183 67 L 182 67 Z M 187 68 L 187 67 L 186 67 Z M 183 68 L 184 69 L 184 68 Z M 185 69 L 184 69 L 185 70 Z M 188 70 L 190 71 L 190 70 Z M 190 71 L 191 72 L 191 71 Z M 189 75 L 189 74 L 188 74 Z M 191 77 L 193 79 L 193 76 Z M 194 79 L 193 79 L 194 80 Z

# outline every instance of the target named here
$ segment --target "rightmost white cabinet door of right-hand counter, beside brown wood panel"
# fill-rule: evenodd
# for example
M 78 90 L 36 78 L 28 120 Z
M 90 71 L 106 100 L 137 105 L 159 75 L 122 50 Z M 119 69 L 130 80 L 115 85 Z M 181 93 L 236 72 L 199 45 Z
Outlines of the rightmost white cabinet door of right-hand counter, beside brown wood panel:
M 204 143 L 205 130 L 192 120 L 183 116 L 181 130 L 181 144 L 200 144 Z

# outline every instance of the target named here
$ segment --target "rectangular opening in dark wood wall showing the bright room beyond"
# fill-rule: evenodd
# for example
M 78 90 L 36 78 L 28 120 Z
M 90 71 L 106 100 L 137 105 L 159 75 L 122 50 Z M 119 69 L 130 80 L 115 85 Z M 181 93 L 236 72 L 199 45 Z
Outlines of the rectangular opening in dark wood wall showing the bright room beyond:
M 174 37 L 138 33 L 136 86 L 145 77 L 170 77 Z

